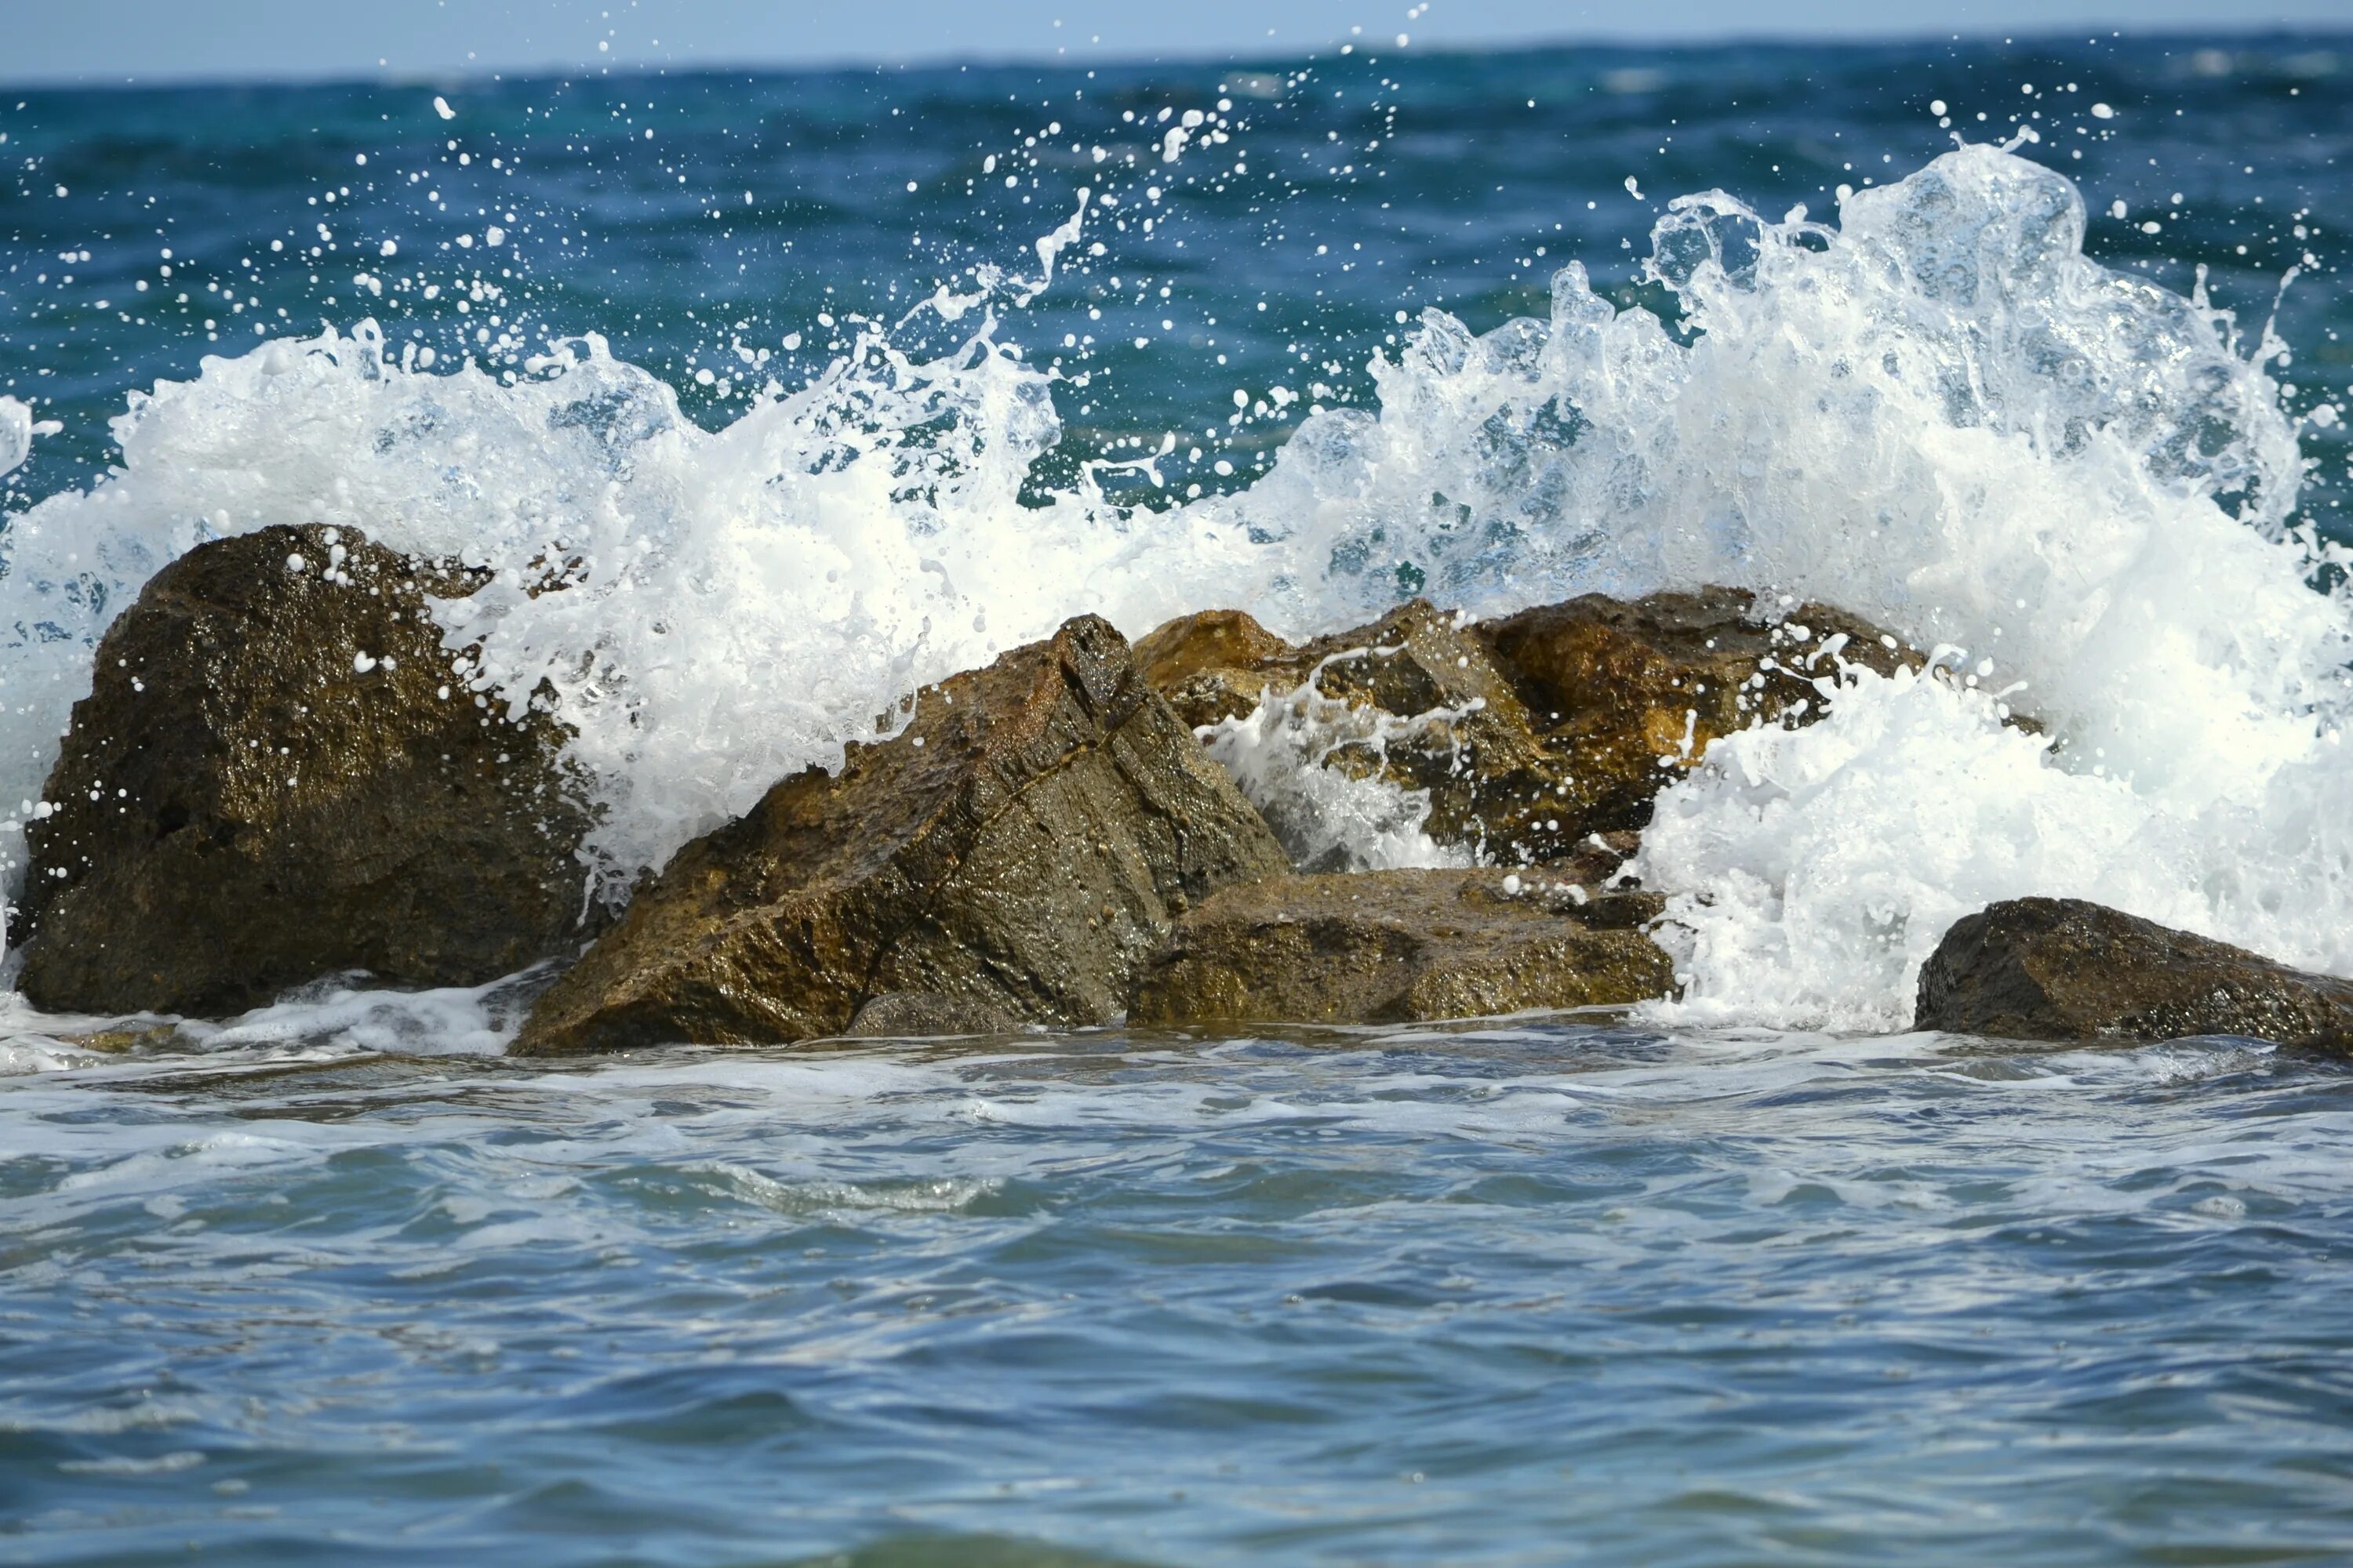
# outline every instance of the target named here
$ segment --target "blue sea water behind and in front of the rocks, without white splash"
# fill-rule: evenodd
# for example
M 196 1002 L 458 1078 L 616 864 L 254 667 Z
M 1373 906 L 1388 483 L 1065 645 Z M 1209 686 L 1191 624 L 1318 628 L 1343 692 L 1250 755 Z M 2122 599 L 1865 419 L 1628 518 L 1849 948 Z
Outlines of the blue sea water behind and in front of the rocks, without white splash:
M 720 428 L 1087 176 L 1153 228 L 1007 322 L 1089 376 L 1038 484 L 1181 428 L 1172 489 L 1231 489 L 1301 411 L 1235 386 L 1367 402 L 1400 313 L 1572 256 L 1666 310 L 1664 197 L 1826 216 L 1934 99 L 2040 115 L 2111 266 L 2261 320 L 2311 254 L 2304 411 L 2353 381 L 2348 82 L 2268 38 L 0 94 L 0 390 L 64 423 L 0 484 L 362 313 L 494 371 L 598 331 Z M 1160 172 L 1219 99 L 1247 174 Z M 2344 425 L 2304 451 L 2346 534 Z M 548 1070 L 513 1004 L 0 1018 L 0 1561 L 2353 1554 L 2344 1067 L 1572 1020 Z

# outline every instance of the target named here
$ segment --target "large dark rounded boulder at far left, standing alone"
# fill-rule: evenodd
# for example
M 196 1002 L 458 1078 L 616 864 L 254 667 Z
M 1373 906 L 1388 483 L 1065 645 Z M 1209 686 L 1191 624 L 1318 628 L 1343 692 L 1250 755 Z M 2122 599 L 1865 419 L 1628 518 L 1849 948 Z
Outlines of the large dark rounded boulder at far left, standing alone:
M 26 830 L 24 994 L 233 1013 L 332 971 L 473 985 L 576 950 L 591 811 L 562 726 L 452 675 L 428 595 L 473 588 L 329 527 L 155 574 Z

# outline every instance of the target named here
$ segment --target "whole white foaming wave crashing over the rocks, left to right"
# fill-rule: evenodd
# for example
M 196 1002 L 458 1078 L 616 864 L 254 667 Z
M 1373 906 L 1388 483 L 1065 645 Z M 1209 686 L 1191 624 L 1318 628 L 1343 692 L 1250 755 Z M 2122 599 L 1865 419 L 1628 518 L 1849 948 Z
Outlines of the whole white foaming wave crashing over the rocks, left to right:
M 1579 266 L 1548 320 L 1424 313 L 1374 367 L 1379 414 L 1315 414 L 1259 484 L 1158 515 L 1092 470 L 1024 496 L 1052 374 L 998 334 L 1045 280 L 932 301 L 969 329 L 939 360 L 868 327 L 718 433 L 593 336 L 513 383 L 426 374 L 372 324 L 207 360 L 132 400 L 113 477 L 9 522 L 0 806 L 31 809 L 139 583 L 271 522 L 501 571 L 445 607 L 449 646 L 506 703 L 558 693 L 614 889 L 1068 614 L 1238 604 L 1304 635 L 1409 592 L 1485 614 L 1734 583 L 1946 644 L 1979 691 L 1859 677 L 1828 724 L 1725 741 L 1668 792 L 1640 870 L 1678 896 L 1685 1011 L 1901 1025 L 1944 924 L 2024 891 L 2353 971 L 2353 621 L 2294 529 L 2278 343 L 2082 256 L 2078 190 L 2005 150 L 1840 219 L 1682 197 L 1652 259 L 1680 322 Z M 1993 689 L 2057 745 L 2002 729 Z M 1320 806 L 1334 844 L 1362 804 Z

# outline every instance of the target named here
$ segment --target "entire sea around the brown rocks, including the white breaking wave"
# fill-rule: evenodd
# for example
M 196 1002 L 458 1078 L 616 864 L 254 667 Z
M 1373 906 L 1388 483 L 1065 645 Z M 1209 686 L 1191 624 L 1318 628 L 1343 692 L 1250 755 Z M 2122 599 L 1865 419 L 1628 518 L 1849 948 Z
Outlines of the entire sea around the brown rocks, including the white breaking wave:
M 0 1561 L 2346 1561 L 2353 1077 L 1908 1032 L 2028 891 L 2353 973 L 2346 221 L 2353 35 L 0 89 L 16 877 L 96 632 L 268 522 L 579 564 L 449 616 L 614 886 L 1082 609 L 1953 672 L 1666 792 L 1631 1018 L 0 997 Z

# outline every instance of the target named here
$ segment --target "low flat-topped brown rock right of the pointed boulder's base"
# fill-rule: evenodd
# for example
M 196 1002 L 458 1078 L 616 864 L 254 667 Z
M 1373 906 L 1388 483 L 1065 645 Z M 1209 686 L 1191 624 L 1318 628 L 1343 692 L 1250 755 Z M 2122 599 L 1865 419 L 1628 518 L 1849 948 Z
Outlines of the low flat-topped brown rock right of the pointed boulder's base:
M 1675 990 L 1649 893 L 1497 870 L 1273 877 L 1176 922 L 1132 1023 L 1407 1023 L 1631 1006 Z

